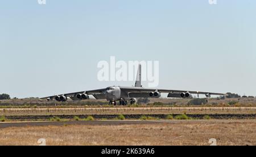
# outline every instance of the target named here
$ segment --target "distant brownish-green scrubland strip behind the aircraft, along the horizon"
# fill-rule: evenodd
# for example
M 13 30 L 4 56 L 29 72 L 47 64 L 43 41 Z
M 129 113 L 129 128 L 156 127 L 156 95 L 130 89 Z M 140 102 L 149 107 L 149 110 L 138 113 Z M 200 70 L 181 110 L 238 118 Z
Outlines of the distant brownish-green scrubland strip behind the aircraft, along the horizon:
M 154 103 L 160 103 L 161 105 L 173 105 L 173 106 L 187 106 L 191 99 L 177 99 L 177 98 L 149 98 L 146 104 L 141 102 L 141 105 L 155 105 Z M 256 106 L 256 98 L 226 98 L 220 100 L 217 98 L 209 98 L 207 105 L 212 106 L 226 106 L 230 102 L 236 102 L 238 106 Z M 67 102 L 53 102 L 46 100 L 39 100 L 38 98 L 24 98 L 24 99 L 12 99 L 12 100 L 0 100 L 0 107 L 17 107 L 20 108 L 33 108 L 34 106 L 46 107 L 46 106 L 97 106 L 97 105 L 108 105 L 109 102 L 105 100 L 83 100 L 83 101 L 67 101 Z M 201 105 L 201 104 L 197 104 Z

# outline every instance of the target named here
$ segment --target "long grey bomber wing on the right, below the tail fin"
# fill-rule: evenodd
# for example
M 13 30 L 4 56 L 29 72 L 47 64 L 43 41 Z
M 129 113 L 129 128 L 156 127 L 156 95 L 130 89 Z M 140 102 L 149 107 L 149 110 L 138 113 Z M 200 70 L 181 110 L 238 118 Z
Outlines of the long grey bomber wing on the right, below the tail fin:
M 156 89 L 156 88 L 130 88 L 130 87 L 121 87 L 123 91 L 125 91 L 128 94 L 132 94 L 136 97 L 136 94 L 140 93 L 150 93 L 150 92 L 156 92 L 156 90 L 160 93 L 191 93 L 191 94 L 209 94 L 209 95 L 216 95 L 216 96 L 225 96 L 224 93 L 213 93 L 213 92 L 197 92 L 192 90 L 168 90 L 168 89 Z

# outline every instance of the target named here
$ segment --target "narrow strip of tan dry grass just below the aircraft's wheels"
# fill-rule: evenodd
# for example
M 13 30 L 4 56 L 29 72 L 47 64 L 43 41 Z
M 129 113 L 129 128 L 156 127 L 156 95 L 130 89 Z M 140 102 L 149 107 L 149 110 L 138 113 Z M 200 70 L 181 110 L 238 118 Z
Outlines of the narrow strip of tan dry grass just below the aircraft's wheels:
M 0 109 L 0 115 L 256 114 L 256 107 L 35 108 Z

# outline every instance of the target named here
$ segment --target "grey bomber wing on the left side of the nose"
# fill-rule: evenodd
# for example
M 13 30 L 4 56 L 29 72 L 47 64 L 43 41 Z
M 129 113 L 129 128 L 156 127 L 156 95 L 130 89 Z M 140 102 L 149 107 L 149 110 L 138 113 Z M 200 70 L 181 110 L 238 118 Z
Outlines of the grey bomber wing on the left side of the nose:
M 96 99 L 103 99 L 105 96 L 105 88 L 104 89 L 96 89 L 96 90 L 88 90 L 88 91 L 81 91 L 81 92 L 74 92 L 74 93 L 65 93 L 65 94 L 57 94 L 55 96 L 43 97 L 40 99 L 51 99 L 53 100 L 56 96 L 65 96 L 65 97 L 76 97 L 77 94 L 88 94 L 92 95 Z

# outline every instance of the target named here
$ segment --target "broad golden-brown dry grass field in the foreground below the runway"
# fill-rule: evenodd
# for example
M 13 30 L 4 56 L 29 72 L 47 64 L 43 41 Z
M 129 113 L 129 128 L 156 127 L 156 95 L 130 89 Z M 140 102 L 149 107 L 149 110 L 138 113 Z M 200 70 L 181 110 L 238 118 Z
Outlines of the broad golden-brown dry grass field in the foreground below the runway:
M 166 121 L 131 125 L 26 126 L 0 130 L 0 145 L 256 145 L 256 121 Z

